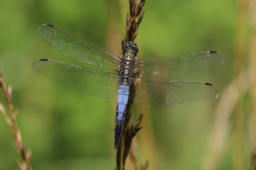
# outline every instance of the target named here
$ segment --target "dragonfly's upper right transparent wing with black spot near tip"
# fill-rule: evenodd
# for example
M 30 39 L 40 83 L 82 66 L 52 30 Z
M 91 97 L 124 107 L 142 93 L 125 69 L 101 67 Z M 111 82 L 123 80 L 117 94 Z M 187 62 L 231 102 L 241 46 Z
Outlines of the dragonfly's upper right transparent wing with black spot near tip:
M 224 63 L 224 60 L 219 52 L 209 51 L 180 57 L 144 58 L 138 60 L 134 67 L 144 75 L 179 77 L 205 71 Z

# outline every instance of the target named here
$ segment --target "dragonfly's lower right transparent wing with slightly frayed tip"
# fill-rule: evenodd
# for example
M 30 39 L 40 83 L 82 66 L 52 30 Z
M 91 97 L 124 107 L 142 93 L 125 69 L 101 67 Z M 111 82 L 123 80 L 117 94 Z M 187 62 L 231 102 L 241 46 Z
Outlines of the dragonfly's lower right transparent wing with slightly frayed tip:
M 188 101 L 198 101 L 218 97 L 219 91 L 205 82 L 169 80 L 140 75 L 134 77 L 130 98 L 138 103 L 149 105 L 173 105 Z

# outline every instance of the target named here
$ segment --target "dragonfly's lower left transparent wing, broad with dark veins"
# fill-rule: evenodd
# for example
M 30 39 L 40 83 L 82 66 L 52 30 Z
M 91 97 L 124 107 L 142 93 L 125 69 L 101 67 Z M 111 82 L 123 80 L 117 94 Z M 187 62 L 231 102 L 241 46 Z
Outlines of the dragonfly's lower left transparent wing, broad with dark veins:
M 115 70 L 81 67 L 48 59 L 35 61 L 32 68 L 38 73 L 83 94 L 112 97 L 118 90 L 119 76 Z

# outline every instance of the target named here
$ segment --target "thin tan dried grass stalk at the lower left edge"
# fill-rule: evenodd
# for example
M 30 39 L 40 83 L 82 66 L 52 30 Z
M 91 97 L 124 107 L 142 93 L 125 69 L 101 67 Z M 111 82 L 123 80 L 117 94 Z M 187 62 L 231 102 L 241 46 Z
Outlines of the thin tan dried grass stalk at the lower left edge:
M 4 78 L 3 78 L 3 72 L 0 69 L 0 87 L 2 91 L 4 92 L 5 99 L 7 101 L 8 107 L 9 107 L 9 114 L 7 114 L 5 107 L 0 102 L 0 111 L 3 114 L 5 121 L 9 125 L 9 128 L 11 130 L 11 133 L 15 140 L 15 149 L 18 152 L 18 154 L 22 158 L 22 162 L 16 160 L 20 170 L 31 170 L 30 168 L 30 160 L 31 160 L 31 150 L 28 149 L 27 152 L 24 150 L 24 146 L 22 144 L 21 140 L 21 133 L 18 129 L 18 123 L 17 123 L 17 114 L 18 110 L 15 109 L 11 103 L 12 98 L 12 87 L 9 86 L 8 89 L 5 85 Z

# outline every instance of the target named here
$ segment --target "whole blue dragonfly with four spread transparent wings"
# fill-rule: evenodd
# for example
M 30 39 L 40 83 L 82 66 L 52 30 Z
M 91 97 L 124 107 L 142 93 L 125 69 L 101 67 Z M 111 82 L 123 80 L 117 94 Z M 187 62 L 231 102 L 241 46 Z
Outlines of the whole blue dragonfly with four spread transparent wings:
M 66 56 L 91 65 L 83 67 L 62 61 L 40 59 L 32 64 L 38 73 L 82 94 L 113 97 L 118 92 L 114 149 L 117 149 L 128 98 L 149 105 L 173 105 L 218 97 L 218 89 L 206 82 L 173 80 L 224 63 L 219 52 L 208 51 L 179 57 L 150 57 L 137 60 L 139 48 L 134 42 L 122 46 L 121 56 L 80 41 L 50 25 L 38 27 L 38 33 Z

